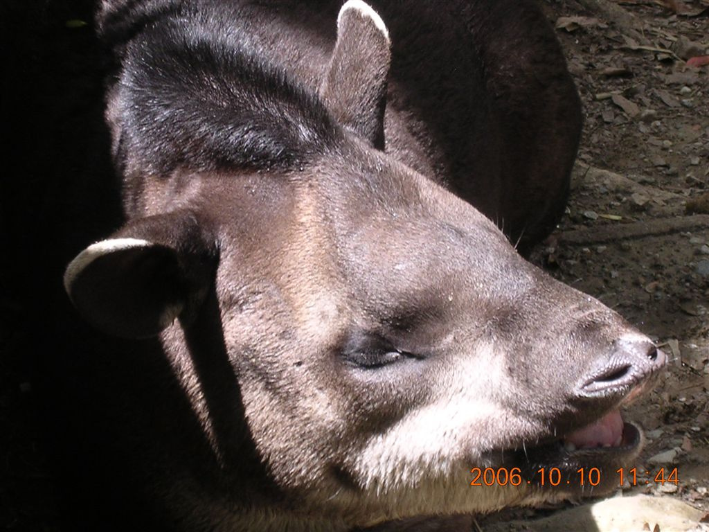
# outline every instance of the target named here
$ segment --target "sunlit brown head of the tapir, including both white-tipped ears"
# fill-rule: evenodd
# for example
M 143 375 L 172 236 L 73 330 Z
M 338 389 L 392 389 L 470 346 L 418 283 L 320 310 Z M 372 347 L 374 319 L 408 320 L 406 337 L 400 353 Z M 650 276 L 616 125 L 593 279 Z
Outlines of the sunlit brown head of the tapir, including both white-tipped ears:
M 266 140 L 241 145 L 264 159 L 269 143 L 296 155 L 234 170 L 190 167 L 182 154 L 163 177 L 143 176 L 128 197 L 142 206 L 135 216 L 69 265 L 69 296 L 108 333 L 160 336 L 223 456 L 214 420 L 224 416 L 190 362 L 208 365 L 213 353 L 186 339 L 215 330 L 205 316 L 216 306 L 243 403 L 230 422 L 250 434 L 293 511 L 366 525 L 608 491 L 642 439 L 618 406 L 664 354 L 379 149 L 388 65 L 384 23 L 348 2 L 320 93 L 262 96 L 273 114 L 254 127 Z M 133 105 L 130 79 L 123 87 L 112 112 L 135 176 L 147 155 L 127 124 L 140 116 L 121 117 L 157 121 L 149 103 Z M 179 134 L 161 139 L 177 145 L 169 135 Z M 519 477 L 471 487 L 474 467 Z M 542 467 L 557 467 L 561 484 L 542 486 Z M 579 473 L 591 467 L 594 485 Z

